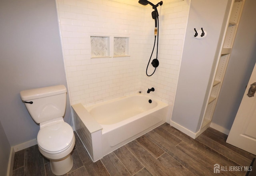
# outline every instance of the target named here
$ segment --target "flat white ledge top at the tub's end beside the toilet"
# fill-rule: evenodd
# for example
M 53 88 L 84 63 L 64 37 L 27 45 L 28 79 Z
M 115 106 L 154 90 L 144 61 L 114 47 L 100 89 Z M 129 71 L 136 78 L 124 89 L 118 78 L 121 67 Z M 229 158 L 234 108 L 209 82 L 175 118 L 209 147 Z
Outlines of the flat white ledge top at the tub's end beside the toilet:
M 81 103 L 71 105 L 71 107 L 74 109 L 74 113 L 76 113 L 78 117 L 80 117 L 82 122 L 86 124 L 86 127 L 88 128 L 88 131 L 90 133 L 100 131 L 103 129 L 102 126 L 100 126 L 98 122 L 91 117 L 90 113 L 84 108 L 84 106 Z

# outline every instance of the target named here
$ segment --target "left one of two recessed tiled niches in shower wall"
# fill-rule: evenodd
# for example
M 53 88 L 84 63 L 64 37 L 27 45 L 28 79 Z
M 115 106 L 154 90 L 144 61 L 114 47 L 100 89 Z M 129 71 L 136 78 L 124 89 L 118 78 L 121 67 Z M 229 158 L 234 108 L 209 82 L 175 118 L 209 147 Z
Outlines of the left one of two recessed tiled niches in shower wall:
M 110 57 L 109 37 L 91 36 L 92 57 Z

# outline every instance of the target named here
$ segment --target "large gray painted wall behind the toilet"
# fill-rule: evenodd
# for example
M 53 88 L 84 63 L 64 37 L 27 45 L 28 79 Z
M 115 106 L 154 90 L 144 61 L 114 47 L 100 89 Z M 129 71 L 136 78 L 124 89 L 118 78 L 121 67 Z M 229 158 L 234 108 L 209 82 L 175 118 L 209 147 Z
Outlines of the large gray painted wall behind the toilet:
M 55 0 L 2 0 L 0 24 L 0 122 L 15 146 L 39 131 L 20 91 L 67 86 Z M 71 124 L 69 99 L 64 121 Z

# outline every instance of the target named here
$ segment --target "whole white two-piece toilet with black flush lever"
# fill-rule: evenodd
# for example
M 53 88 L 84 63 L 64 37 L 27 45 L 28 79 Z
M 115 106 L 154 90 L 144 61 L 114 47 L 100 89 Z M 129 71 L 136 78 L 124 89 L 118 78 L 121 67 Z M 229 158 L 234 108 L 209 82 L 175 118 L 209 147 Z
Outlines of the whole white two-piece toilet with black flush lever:
M 30 116 L 40 125 L 38 149 L 50 160 L 51 170 L 57 176 L 71 170 L 73 159 L 70 153 L 76 141 L 72 127 L 63 120 L 66 92 L 64 85 L 20 92 Z

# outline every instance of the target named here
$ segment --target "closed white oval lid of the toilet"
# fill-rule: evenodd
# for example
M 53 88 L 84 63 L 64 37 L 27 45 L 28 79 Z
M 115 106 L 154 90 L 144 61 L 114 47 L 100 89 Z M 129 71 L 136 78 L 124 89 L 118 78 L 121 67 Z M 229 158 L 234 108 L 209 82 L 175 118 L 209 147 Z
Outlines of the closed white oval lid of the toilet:
M 66 122 L 57 123 L 39 130 L 38 145 L 44 150 L 57 152 L 70 145 L 74 136 L 72 127 Z

